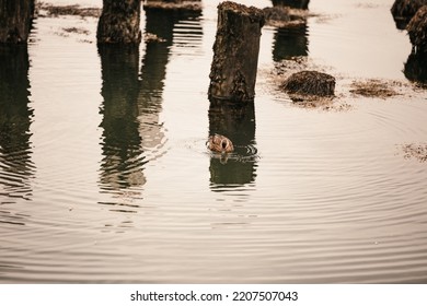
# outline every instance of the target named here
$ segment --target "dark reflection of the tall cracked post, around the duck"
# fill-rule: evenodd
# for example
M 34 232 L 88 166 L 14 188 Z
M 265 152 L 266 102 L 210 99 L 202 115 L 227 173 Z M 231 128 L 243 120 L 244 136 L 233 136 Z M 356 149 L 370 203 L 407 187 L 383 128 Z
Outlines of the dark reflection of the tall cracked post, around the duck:
M 238 104 L 211 99 L 209 134 L 223 134 L 234 145 L 230 158 L 228 154 L 212 154 L 209 166 L 211 189 L 220 190 L 223 187 L 239 187 L 253 183 L 256 176 L 256 160 L 247 156 L 247 151 L 255 144 L 254 103 Z

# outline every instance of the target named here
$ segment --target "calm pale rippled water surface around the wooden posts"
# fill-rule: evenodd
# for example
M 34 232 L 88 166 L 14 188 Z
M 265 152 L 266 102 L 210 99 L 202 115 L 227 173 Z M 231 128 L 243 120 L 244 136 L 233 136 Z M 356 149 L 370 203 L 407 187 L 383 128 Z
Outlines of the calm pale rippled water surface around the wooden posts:
M 312 1 L 304 27 L 263 28 L 261 71 L 307 57 L 349 109 L 298 107 L 258 73 L 228 119 L 207 99 L 218 1 L 142 14 L 166 42 L 139 48 L 99 49 L 92 17 L 37 19 L 27 51 L 0 52 L 0 282 L 425 283 L 427 164 L 402 145 L 426 143 L 427 94 L 392 2 Z M 348 94 L 370 78 L 405 94 Z

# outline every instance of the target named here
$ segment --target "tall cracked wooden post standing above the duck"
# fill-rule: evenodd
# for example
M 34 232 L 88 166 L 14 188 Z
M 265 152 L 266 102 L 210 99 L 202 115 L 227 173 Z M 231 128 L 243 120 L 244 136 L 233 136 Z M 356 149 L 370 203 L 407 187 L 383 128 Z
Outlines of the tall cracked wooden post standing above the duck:
M 263 25 L 264 13 L 259 9 L 231 1 L 218 5 L 209 98 L 254 99 Z

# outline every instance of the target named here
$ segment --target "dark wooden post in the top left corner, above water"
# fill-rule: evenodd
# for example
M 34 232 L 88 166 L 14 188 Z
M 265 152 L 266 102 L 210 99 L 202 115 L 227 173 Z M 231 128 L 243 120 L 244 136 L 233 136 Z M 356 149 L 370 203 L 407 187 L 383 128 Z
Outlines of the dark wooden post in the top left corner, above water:
M 0 43 L 25 44 L 34 14 L 34 0 L 0 0 Z

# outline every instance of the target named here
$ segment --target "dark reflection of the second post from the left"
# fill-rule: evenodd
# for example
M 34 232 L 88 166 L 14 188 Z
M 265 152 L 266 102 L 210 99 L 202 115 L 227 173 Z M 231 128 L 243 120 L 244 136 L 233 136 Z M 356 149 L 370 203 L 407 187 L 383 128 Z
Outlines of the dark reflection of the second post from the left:
M 106 189 L 142 186 L 145 163 L 138 121 L 137 45 L 99 45 L 102 64 L 103 131 L 101 184 Z

